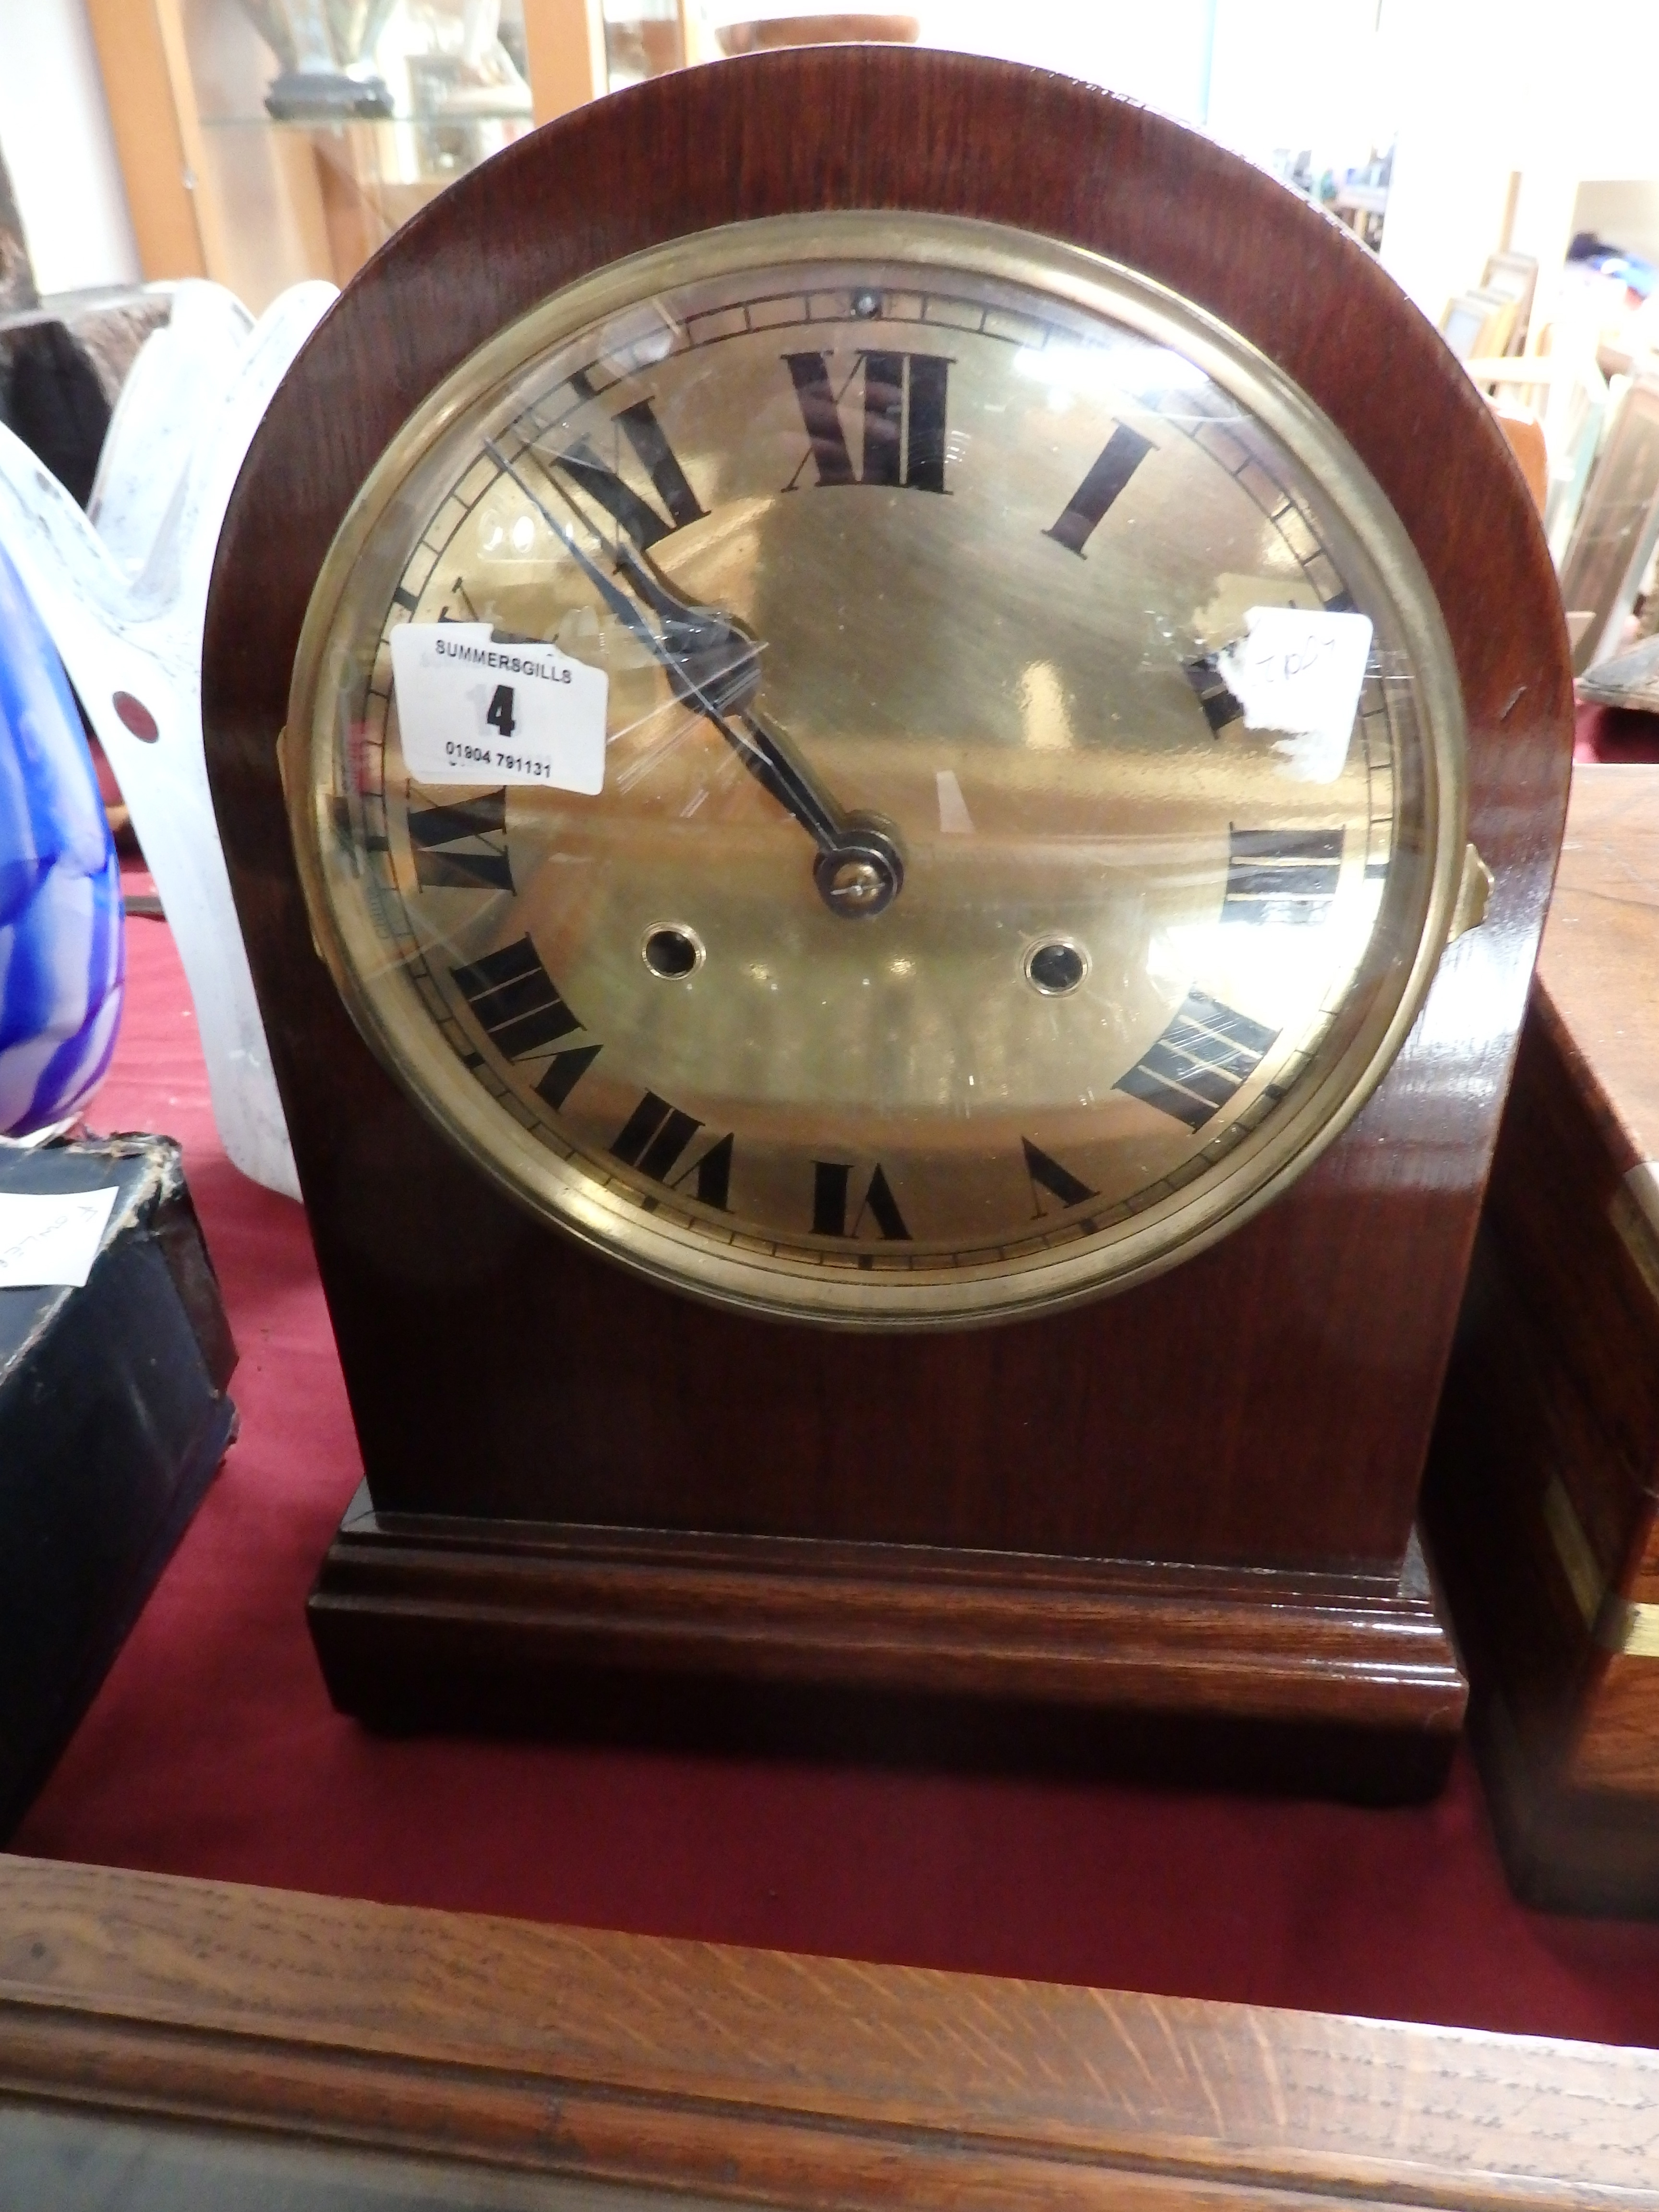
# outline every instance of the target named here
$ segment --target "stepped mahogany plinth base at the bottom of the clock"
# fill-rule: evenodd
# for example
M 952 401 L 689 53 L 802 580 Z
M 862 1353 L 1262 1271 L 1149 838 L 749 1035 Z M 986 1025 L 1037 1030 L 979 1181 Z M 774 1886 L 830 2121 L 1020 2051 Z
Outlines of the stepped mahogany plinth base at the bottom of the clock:
M 330 1694 L 383 1728 L 1095 1759 L 1365 1798 L 1440 1787 L 1467 1683 L 1405 1573 L 1219 1573 L 891 1544 L 376 1513 L 310 1599 Z

